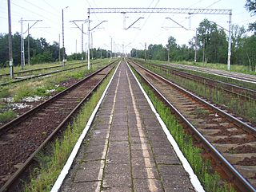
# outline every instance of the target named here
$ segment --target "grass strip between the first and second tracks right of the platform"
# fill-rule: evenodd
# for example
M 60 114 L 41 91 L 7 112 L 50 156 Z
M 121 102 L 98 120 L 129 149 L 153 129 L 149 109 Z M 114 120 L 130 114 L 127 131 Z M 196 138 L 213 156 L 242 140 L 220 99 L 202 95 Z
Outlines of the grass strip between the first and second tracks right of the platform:
M 230 95 L 218 88 L 209 88 L 204 83 L 198 83 L 194 80 L 187 80 L 180 76 L 174 76 L 161 69 L 155 69 L 150 65 L 145 65 L 147 69 L 150 69 L 166 79 L 173 81 L 175 84 L 186 88 L 190 92 L 194 92 L 198 96 L 202 96 L 207 100 L 211 100 L 215 104 L 218 104 L 224 108 L 227 108 L 230 112 L 242 116 L 251 123 L 256 123 L 256 102 L 254 100 L 241 100 L 239 96 Z

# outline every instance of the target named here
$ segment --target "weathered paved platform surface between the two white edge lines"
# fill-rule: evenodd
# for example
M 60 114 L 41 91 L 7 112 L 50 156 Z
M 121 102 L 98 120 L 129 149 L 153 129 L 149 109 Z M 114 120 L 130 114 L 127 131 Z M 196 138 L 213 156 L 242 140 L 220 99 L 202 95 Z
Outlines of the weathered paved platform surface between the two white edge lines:
M 60 191 L 194 191 L 125 62 Z

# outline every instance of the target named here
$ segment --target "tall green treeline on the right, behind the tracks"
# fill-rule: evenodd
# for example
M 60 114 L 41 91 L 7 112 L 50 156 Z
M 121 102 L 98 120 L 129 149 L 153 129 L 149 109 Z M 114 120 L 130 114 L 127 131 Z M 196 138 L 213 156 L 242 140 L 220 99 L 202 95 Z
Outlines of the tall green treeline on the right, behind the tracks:
M 255 70 L 256 65 L 256 36 L 246 35 L 246 29 L 233 25 L 231 29 L 231 63 L 248 65 Z M 197 28 L 189 45 L 178 45 L 172 36 L 168 38 L 166 46 L 149 45 L 146 50 L 146 59 L 167 61 L 201 61 L 209 63 L 226 63 L 228 36 L 225 30 L 214 22 L 204 19 Z M 196 53 L 195 53 L 196 50 Z M 195 57 L 196 54 L 196 57 Z M 145 51 L 132 49 L 131 57 L 145 58 Z

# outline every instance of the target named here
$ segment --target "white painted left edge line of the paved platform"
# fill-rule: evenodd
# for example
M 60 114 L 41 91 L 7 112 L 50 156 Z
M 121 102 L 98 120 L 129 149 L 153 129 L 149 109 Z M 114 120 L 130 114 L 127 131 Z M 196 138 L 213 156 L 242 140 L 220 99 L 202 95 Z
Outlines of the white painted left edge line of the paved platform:
M 118 66 L 120 65 L 121 61 L 119 62 Z M 118 67 L 117 67 L 118 69 Z M 58 175 L 58 178 L 56 180 L 56 182 L 54 183 L 54 186 L 52 187 L 52 189 L 50 190 L 51 192 L 58 192 L 58 190 L 60 189 L 60 187 L 62 186 L 62 182 L 64 181 L 64 179 L 66 178 L 66 174 L 69 173 L 70 167 L 72 165 L 72 163 L 74 162 L 74 158 L 76 157 L 76 155 L 78 154 L 78 150 L 82 144 L 83 139 L 85 138 L 87 132 L 89 131 L 90 125 L 94 120 L 94 117 L 96 115 L 96 112 L 98 112 L 98 108 L 100 106 L 100 104 L 102 104 L 102 100 L 104 99 L 104 96 L 106 95 L 106 91 L 108 90 L 108 88 L 110 87 L 110 84 L 114 78 L 115 73 L 117 72 L 117 69 L 115 69 L 113 76 L 110 79 L 109 84 L 106 85 L 106 88 L 102 94 L 102 97 L 100 98 L 100 100 L 98 100 L 98 104 L 96 105 L 96 107 L 94 108 L 94 112 L 92 112 L 90 119 L 88 120 L 88 122 L 86 123 L 86 127 L 84 128 L 84 130 L 82 131 L 82 134 L 80 135 L 80 137 L 78 138 L 77 143 L 75 143 L 74 148 L 70 154 L 69 159 L 67 159 L 65 166 L 63 167 L 61 173 Z

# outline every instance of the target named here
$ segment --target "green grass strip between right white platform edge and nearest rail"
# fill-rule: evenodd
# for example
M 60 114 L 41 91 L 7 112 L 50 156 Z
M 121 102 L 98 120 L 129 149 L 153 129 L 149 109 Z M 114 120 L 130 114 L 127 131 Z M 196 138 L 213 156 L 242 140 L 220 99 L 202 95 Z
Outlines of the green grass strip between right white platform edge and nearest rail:
M 170 134 L 173 135 L 178 143 L 183 155 L 185 155 L 186 159 L 189 161 L 190 166 L 198 176 L 204 189 L 208 192 L 234 192 L 234 188 L 230 186 L 228 182 L 223 181 L 219 174 L 213 170 L 210 161 L 202 158 L 202 148 L 194 146 L 192 136 L 186 134 L 182 124 L 180 124 L 178 120 L 176 120 L 176 117 L 170 112 L 170 108 L 166 107 L 165 104 L 158 100 L 158 97 L 142 82 L 138 74 L 136 74 L 136 76 L 154 104 L 154 108 L 156 108 L 158 114 L 166 123 Z

